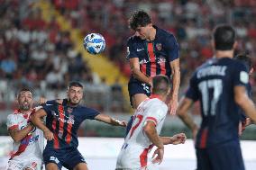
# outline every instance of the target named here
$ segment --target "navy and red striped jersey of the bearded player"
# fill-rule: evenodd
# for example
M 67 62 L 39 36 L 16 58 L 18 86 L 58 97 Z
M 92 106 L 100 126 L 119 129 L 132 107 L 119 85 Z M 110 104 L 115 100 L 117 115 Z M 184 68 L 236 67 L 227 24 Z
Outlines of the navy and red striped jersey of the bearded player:
M 53 132 L 54 139 L 48 140 L 46 148 L 78 148 L 78 129 L 82 121 L 94 120 L 99 114 L 94 109 L 78 105 L 70 107 L 68 100 L 61 104 L 48 101 L 42 105 L 47 112 L 46 126 Z

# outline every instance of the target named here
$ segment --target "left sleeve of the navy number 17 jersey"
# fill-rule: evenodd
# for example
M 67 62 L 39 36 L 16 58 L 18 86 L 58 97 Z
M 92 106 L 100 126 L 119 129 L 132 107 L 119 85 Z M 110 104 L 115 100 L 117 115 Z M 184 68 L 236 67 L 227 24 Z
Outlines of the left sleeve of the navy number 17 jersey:
M 194 73 L 194 75 L 191 77 L 189 81 L 189 86 L 187 88 L 187 92 L 185 96 L 193 101 L 197 101 L 199 99 L 199 93 L 197 89 L 197 82 L 196 82 L 196 77 L 197 74 Z

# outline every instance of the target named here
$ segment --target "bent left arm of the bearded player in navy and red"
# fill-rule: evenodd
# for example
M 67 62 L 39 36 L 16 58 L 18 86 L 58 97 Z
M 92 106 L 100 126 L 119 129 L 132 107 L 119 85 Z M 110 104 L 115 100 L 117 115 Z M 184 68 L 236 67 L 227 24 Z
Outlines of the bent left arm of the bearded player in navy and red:
M 33 125 L 38 127 L 40 130 L 43 131 L 43 135 L 45 139 L 52 140 L 53 139 L 53 133 L 41 122 L 41 119 L 46 116 L 47 113 L 40 109 L 37 112 L 34 112 L 31 117 L 31 121 Z

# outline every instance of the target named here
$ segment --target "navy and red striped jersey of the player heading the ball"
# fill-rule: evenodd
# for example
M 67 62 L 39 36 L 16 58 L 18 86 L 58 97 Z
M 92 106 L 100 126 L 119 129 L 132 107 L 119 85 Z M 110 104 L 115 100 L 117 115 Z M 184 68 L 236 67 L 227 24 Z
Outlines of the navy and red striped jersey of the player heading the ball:
M 171 75 L 169 62 L 179 58 L 178 42 L 174 35 L 156 26 L 155 39 L 142 40 L 132 36 L 127 42 L 127 59 L 139 58 L 140 69 L 146 76 Z

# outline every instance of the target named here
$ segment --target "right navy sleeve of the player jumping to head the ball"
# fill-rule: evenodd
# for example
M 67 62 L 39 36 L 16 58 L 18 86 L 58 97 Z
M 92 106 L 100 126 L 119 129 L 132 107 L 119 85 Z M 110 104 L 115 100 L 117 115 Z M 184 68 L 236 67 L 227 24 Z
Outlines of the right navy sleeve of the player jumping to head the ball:
M 169 61 L 179 58 L 178 42 L 172 34 L 166 38 L 166 49 Z

